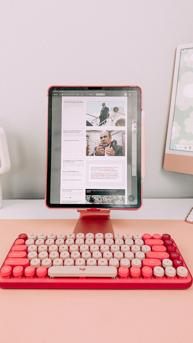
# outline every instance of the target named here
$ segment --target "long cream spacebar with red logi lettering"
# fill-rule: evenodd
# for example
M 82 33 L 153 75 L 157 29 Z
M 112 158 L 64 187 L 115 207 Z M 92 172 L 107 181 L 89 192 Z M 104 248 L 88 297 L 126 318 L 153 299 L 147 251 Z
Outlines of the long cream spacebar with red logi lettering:
M 52 266 L 48 268 L 48 275 L 52 277 L 61 277 L 61 276 L 90 276 L 90 277 L 113 277 L 117 275 L 117 269 L 111 266 L 86 266 L 80 267 L 78 265 L 75 266 Z

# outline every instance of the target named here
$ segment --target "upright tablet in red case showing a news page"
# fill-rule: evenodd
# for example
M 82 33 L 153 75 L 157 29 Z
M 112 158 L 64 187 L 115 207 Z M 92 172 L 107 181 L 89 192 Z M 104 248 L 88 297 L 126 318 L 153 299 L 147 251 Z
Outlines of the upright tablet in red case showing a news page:
M 138 86 L 48 88 L 46 205 L 141 206 Z

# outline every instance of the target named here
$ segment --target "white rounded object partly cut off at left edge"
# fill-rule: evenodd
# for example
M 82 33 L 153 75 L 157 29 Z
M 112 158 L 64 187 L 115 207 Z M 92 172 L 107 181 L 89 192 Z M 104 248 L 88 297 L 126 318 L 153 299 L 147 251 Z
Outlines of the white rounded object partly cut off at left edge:
M 7 145 L 7 139 L 5 131 L 0 128 L 0 208 L 3 206 L 3 196 L 2 196 L 2 182 L 1 177 L 3 174 L 7 173 L 11 168 L 11 162 L 9 157 L 9 150 Z

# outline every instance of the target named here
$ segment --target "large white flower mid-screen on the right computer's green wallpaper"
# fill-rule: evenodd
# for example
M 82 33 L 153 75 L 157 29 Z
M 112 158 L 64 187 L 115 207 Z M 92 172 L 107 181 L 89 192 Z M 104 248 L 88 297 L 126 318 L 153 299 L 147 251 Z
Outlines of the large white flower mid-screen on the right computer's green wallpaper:
M 193 72 L 187 71 L 181 76 L 178 82 L 176 105 L 179 110 L 185 111 L 191 105 L 193 106 Z

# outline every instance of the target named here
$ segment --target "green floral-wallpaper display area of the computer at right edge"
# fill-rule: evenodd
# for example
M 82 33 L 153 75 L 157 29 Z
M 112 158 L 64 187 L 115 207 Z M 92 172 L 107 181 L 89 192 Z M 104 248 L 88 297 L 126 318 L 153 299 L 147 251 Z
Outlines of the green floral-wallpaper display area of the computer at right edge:
M 193 47 L 181 49 L 170 150 L 193 151 Z

